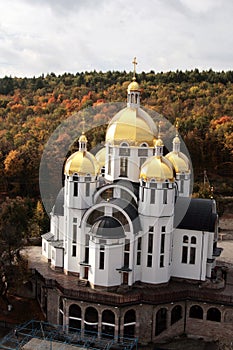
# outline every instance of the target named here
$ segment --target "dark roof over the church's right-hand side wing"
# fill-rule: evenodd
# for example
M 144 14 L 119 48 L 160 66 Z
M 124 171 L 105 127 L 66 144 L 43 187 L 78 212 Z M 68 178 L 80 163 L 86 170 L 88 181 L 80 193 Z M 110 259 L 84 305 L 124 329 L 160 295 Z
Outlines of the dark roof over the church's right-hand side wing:
M 175 204 L 174 226 L 195 231 L 215 231 L 217 214 L 213 212 L 213 200 L 178 197 Z

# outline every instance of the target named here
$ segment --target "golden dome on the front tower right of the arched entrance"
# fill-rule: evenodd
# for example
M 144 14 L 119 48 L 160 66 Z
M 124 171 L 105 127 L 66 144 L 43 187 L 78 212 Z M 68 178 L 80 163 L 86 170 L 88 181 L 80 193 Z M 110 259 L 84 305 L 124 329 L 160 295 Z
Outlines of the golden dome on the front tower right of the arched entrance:
M 173 180 L 172 165 L 165 157 L 150 157 L 141 167 L 140 179 L 145 181 L 151 179 L 156 181 Z

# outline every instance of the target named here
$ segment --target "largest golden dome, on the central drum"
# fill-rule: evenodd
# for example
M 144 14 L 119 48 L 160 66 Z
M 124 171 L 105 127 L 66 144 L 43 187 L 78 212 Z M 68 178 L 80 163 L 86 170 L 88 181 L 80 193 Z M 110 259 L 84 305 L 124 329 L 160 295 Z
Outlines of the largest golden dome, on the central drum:
M 148 113 L 141 108 L 126 107 L 119 111 L 109 123 L 106 142 L 120 145 L 128 142 L 130 146 L 140 146 L 146 142 L 153 146 L 156 126 Z

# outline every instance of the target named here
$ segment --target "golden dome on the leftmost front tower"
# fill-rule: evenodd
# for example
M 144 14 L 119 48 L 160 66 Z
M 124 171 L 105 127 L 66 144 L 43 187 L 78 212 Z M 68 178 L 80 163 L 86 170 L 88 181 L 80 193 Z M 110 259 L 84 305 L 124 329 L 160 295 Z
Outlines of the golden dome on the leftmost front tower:
M 87 174 L 96 176 L 99 173 L 99 165 L 93 154 L 77 151 L 67 159 L 64 173 L 65 175 L 77 173 L 81 176 Z

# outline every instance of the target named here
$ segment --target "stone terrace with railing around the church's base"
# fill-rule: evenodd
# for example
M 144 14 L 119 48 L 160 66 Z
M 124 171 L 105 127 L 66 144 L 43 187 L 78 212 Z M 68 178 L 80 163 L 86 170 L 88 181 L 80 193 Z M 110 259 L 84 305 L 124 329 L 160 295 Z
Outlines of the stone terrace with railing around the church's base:
M 62 272 L 52 270 L 47 261 L 41 256 L 40 247 L 26 248 L 25 255 L 28 257 L 29 267 L 35 269 L 44 278 L 47 286 L 56 287 L 63 295 L 74 299 L 107 305 L 127 305 L 139 302 L 159 304 L 185 299 L 233 305 L 233 267 L 229 264 L 227 264 L 226 283 L 221 278 L 218 283 L 172 280 L 164 285 L 152 286 L 136 283 L 132 287 L 119 287 L 112 291 L 106 291 L 80 286 L 78 285 L 77 276 L 67 276 Z M 218 261 L 218 265 L 222 266 L 226 263 Z M 221 274 L 220 269 L 219 273 Z

